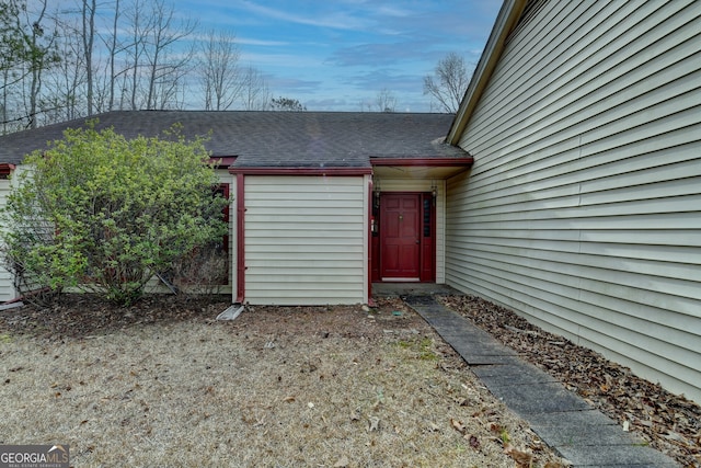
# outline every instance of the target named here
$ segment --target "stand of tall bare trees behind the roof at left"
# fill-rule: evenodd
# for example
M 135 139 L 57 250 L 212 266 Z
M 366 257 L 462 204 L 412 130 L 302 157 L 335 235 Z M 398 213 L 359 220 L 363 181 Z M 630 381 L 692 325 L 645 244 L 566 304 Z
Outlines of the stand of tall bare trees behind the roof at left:
M 303 110 L 273 100 L 263 73 L 239 65 L 233 33 L 210 31 L 188 46 L 195 28 L 171 0 L 0 0 L 0 129 L 182 109 L 198 84 L 207 110 Z

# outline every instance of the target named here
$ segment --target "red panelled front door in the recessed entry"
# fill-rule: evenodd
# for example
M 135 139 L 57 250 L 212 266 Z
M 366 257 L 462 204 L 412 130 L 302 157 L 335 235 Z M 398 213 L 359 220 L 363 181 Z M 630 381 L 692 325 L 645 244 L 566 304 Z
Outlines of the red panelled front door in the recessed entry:
M 420 281 L 421 206 L 421 194 L 382 194 L 380 270 L 383 281 Z

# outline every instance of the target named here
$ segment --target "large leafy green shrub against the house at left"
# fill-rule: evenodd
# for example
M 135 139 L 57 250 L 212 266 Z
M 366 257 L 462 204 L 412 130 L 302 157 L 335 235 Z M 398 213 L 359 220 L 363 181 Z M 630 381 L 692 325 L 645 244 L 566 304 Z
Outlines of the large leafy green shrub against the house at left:
M 209 159 L 204 139 L 177 127 L 130 140 L 94 124 L 66 130 L 14 181 L 5 263 L 34 288 L 137 300 L 154 273 L 226 233 Z

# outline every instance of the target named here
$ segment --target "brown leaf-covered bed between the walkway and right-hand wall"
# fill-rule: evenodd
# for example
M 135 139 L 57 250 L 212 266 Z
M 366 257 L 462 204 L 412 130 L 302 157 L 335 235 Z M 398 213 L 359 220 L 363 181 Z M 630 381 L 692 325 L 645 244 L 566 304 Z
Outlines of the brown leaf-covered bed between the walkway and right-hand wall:
M 641 434 L 685 467 L 701 466 L 701 407 L 599 353 L 529 323 L 512 310 L 474 296 L 448 296 L 446 307 L 490 332 L 550 373 L 593 407 Z

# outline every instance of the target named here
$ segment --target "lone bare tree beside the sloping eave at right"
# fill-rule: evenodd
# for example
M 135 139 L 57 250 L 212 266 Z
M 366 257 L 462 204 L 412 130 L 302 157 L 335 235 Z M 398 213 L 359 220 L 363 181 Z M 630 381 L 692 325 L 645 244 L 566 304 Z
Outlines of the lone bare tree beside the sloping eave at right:
M 440 109 L 455 114 L 460 107 L 470 79 L 464 59 L 455 52 L 438 60 L 434 77 L 424 77 L 424 94 L 430 94 Z

